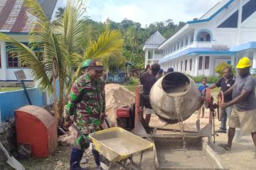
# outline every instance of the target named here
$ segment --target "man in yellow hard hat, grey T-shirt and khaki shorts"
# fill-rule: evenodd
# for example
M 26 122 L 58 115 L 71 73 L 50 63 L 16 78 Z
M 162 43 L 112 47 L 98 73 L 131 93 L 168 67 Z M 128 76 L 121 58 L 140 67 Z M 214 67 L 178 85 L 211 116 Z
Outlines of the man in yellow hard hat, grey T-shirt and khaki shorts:
M 232 93 L 233 100 L 223 103 L 220 107 L 225 109 L 232 106 L 228 129 L 228 145 L 221 145 L 225 149 L 231 149 L 235 128 L 241 128 L 242 132 L 251 132 L 252 140 L 256 149 L 256 80 L 250 74 L 250 59 L 242 57 L 238 65 L 238 77 L 235 84 L 225 91 L 224 95 Z M 255 150 L 256 158 L 256 150 Z

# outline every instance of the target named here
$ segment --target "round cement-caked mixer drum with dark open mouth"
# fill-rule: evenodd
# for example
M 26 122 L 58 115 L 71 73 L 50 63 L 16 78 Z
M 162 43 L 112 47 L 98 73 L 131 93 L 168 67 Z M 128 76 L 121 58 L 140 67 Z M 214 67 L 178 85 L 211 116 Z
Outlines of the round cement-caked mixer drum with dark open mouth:
M 178 123 L 178 114 L 186 120 L 202 105 L 195 82 L 180 72 L 171 72 L 156 81 L 149 101 L 156 115 L 166 123 Z

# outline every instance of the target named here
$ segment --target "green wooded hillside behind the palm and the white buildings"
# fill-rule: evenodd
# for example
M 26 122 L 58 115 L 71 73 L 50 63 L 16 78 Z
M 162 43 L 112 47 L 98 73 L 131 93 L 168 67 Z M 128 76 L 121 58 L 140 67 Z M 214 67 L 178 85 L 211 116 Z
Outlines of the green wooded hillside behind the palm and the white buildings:
M 142 47 L 144 42 L 149 39 L 151 35 L 158 30 L 165 38 L 170 38 L 171 35 L 185 25 L 183 22 L 175 24 L 171 19 L 151 23 L 149 26 L 146 26 L 146 28 L 142 28 L 140 23 L 127 20 L 126 18 L 124 18 L 121 23 L 116 23 L 110 19 L 107 19 L 105 23 L 95 22 L 91 19 L 86 19 L 82 22 L 85 23 L 85 28 L 87 30 L 85 33 L 86 40 L 83 44 L 88 44 L 88 42 L 92 40 L 97 40 L 97 37 L 106 27 L 109 30 L 119 30 L 119 32 L 122 33 L 122 39 L 124 40 L 122 56 L 124 56 L 128 62 L 132 63 L 132 68 L 137 69 L 144 68 L 144 52 Z

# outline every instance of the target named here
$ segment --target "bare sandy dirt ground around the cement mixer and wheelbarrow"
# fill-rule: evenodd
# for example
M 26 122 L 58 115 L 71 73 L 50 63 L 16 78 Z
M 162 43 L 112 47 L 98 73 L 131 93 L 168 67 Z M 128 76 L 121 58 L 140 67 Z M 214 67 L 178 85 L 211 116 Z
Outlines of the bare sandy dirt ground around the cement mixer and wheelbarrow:
M 196 111 L 191 115 L 188 120 L 184 121 L 185 130 L 196 131 L 196 120 L 198 112 Z M 208 123 L 208 111 L 206 111 L 205 118 L 201 118 L 201 128 L 203 128 Z M 218 130 L 220 122 L 215 118 L 215 127 Z M 156 115 L 152 115 L 150 126 L 158 126 L 164 128 L 179 129 L 178 124 L 175 125 L 166 125 L 159 120 Z M 228 133 L 219 133 L 215 137 L 215 142 L 226 143 L 228 140 Z M 60 146 L 55 150 L 54 154 L 47 159 L 25 159 L 20 160 L 21 164 L 26 169 L 31 170 L 65 170 L 69 169 L 69 159 L 71 146 Z M 255 161 L 253 155 L 255 152 L 255 147 L 252 142 L 252 137 L 250 134 L 243 134 L 240 137 L 240 142 L 233 142 L 233 148 L 230 151 L 225 152 L 225 154 L 218 154 L 221 162 L 227 169 L 230 170 L 250 170 L 255 169 Z M 87 164 L 81 164 L 82 167 L 89 167 L 90 169 L 95 169 L 94 159 L 91 154 L 87 155 L 88 162 Z M 140 155 L 134 155 L 134 163 L 139 164 Z M 203 160 L 202 160 L 203 161 Z M 9 170 L 12 169 L 8 164 L 0 162 L 0 169 Z M 121 166 L 115 165 L 113 170 L 122 169 Z M 142 169 L 154 170 L 154 154 L 153 152 L 145 152 L 142 159 Z

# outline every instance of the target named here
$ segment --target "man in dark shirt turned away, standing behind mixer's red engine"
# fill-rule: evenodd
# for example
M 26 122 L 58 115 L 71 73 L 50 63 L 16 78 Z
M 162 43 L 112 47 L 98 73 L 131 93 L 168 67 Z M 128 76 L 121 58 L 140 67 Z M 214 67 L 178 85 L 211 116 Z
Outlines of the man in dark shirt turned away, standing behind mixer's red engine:
M 151 108 L 151 105 L 149 103 L 149 93 L 151 90 L 151 87 L 156 82 L 156 74 L 160 70 L 159 64 L 152 64 L 151 67 L 142 74 L 142 77 L 140 78 L 140 83 L 143 85 L 143 94 L 142 94 L 142 101 L 144 105 L 144 113 L 145 116 L 145 124 L 149 125 L 149 121 L 151 118 L 151 114 L 154 113 L 154 110 Z

